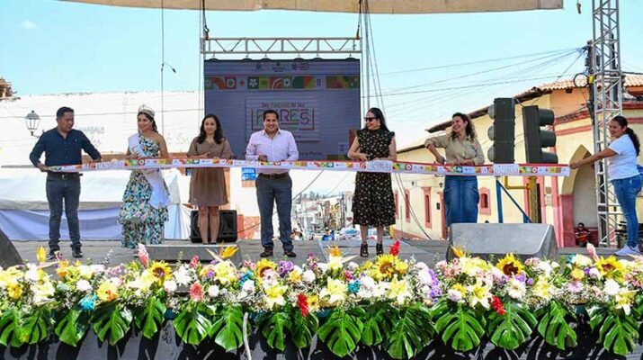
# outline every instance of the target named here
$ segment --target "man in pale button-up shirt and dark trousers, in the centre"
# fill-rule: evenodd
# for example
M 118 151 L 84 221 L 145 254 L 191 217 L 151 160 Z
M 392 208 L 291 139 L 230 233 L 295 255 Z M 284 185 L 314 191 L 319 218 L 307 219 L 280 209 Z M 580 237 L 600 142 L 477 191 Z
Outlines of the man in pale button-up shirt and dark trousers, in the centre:
M 279 114 L 274 110 L 263 112 L 263 130 L 256 131 L 250 137 L 246 148 L 246 160 L 258 161 L 296 161 L 299 151 L 295 138 L 290 131 L 279 129 Z M 283 253 L 287 257 L 296 257 L 290 239 L 292 209 L 292 180 L 288 170 L 257 170 L 256 189 L 259 214 L 261 216 L 261 257 L 272 257 L 272 208 L 277 202 L 279 216 L 279 235 Z

